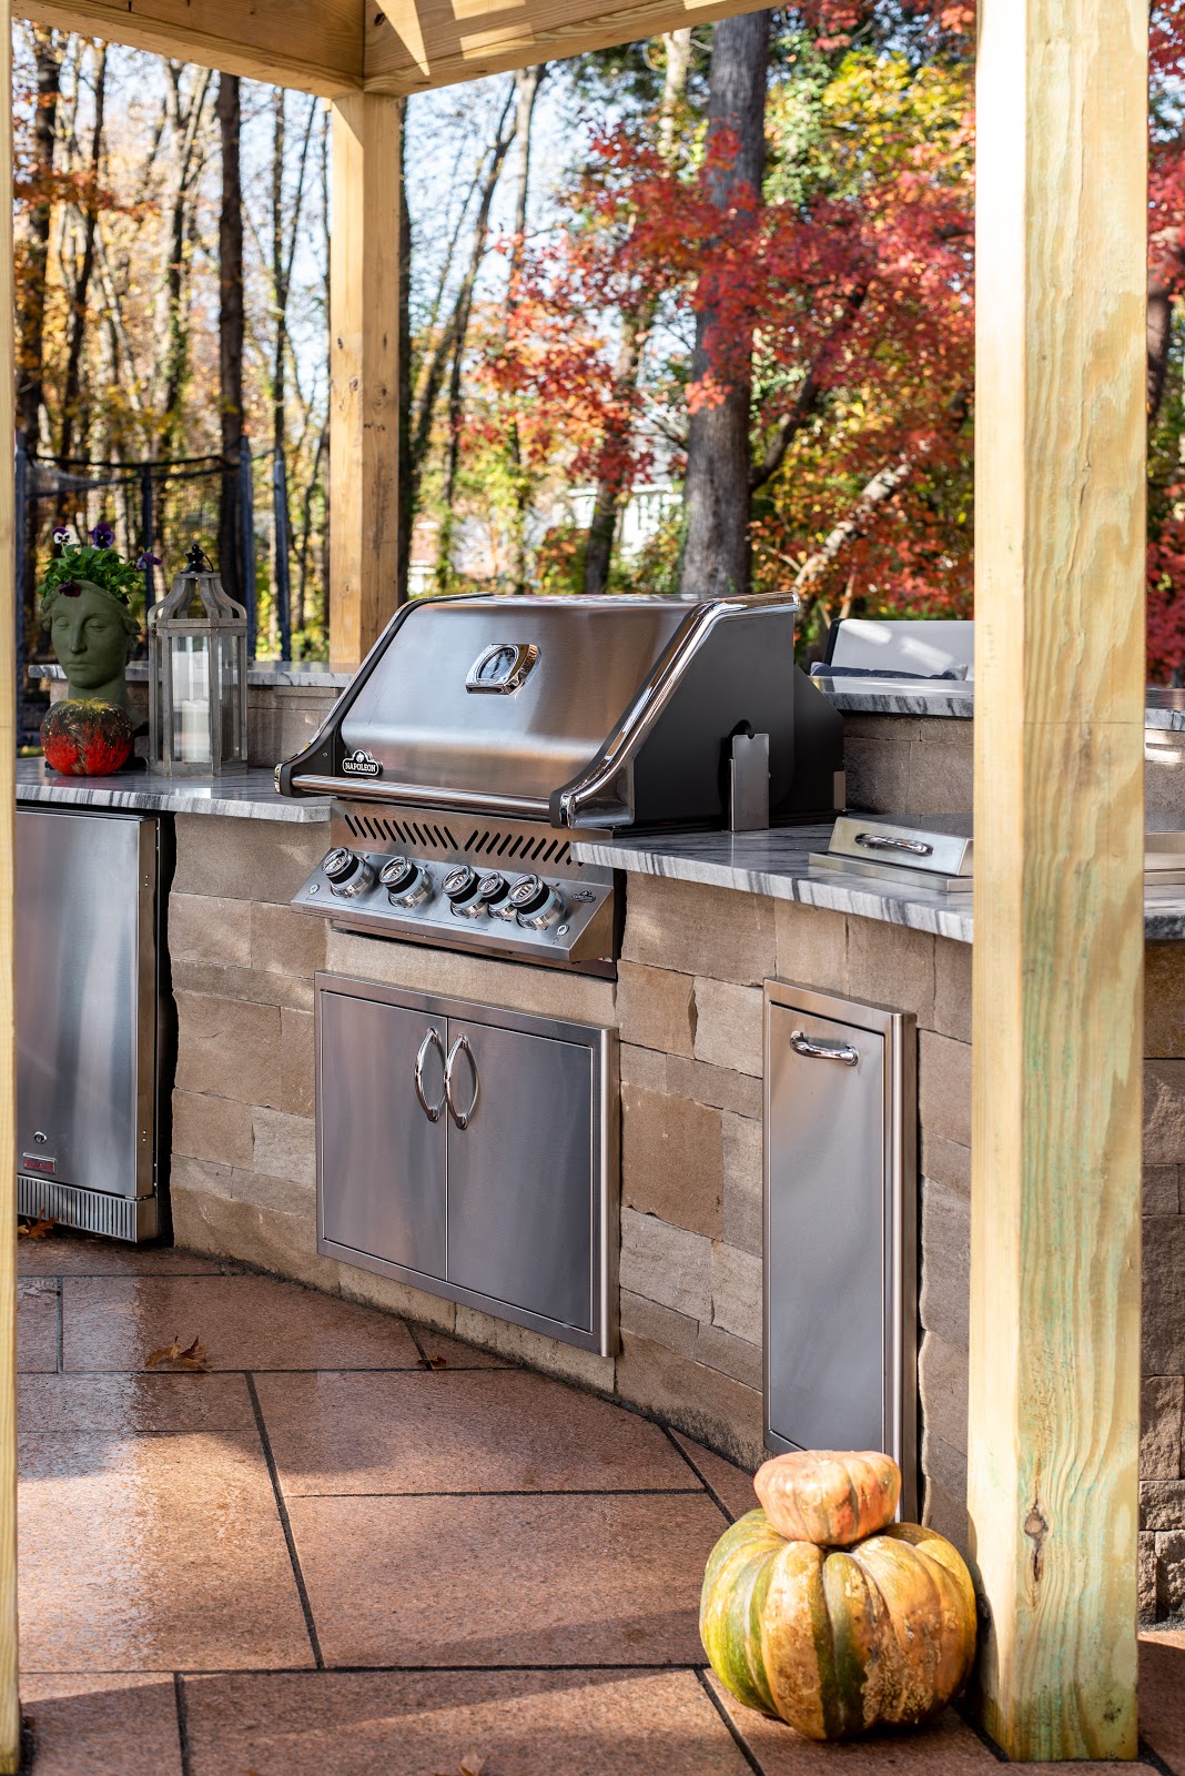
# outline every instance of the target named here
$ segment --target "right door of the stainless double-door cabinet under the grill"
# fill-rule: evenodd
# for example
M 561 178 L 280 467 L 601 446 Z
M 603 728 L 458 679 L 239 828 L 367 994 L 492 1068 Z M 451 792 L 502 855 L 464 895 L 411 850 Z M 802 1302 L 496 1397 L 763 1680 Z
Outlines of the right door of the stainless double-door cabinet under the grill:
M 449 1280 L 591 1334 L 592 1050 L 449 1018 Z

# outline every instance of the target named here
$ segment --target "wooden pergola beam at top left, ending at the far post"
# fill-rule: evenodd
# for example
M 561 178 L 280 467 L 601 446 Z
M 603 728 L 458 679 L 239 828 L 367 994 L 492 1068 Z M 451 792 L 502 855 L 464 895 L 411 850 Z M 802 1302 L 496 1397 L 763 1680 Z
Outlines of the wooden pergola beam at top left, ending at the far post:
M 326 98 L 362 85 L 364 0 L 18 0 L 16 12 Z

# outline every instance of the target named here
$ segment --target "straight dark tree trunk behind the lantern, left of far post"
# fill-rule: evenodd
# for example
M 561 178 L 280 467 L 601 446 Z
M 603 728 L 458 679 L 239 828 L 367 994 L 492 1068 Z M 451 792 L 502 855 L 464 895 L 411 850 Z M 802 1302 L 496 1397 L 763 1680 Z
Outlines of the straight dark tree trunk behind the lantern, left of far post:
M 218 211 L 218 414 L 222 488 L 218 494 L 218 572 L 241 602 L 239 446 L 243 439 L 243 105 L 238 75 L 218 75 L 222 208 Z

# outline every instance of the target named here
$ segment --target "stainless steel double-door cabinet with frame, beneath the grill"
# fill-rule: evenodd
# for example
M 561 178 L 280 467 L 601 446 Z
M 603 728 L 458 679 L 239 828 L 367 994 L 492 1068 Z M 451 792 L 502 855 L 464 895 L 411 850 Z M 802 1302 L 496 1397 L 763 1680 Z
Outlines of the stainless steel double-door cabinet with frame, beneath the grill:
M 612 1030 L 335 975 L 316 1027 L 319 1250 L 608 1353 Z

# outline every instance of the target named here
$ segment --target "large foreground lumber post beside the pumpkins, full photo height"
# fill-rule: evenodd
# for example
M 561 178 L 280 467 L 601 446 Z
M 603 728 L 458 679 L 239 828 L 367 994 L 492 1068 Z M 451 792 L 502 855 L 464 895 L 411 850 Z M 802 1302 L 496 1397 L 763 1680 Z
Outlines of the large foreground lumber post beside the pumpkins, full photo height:
M 1146 0 L 981 0 L 970 1545 L 981 1717 L 1130 1758 Z

